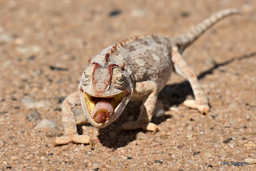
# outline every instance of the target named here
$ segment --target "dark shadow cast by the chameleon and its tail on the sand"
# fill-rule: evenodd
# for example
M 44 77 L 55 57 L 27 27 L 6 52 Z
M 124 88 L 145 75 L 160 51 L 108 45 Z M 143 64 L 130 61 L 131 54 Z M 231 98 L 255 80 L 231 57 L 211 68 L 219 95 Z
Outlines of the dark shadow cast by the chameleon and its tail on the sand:
M 208 74 L 213 74 L 213 71 L 220 66 L 228 65 L 235 60 L 243 60 L 246 58 L 252 58 L 256 56 L 256 52 L 243 55 L 238 58 L 232 58 L 223 63 L 216 63 L 212 68 L 209 68 L 206 71 L 203 71 L 198 75 L 198 79 L 204 78 Z M 168 95 L 168 96 L 166 96 Z M 193 91 L 188 81 L 181 83 L 174 83 L 171 85 L 166 85 L 164 89 L 158 94 L 158 99 L 163 101 L 163 104 L 168 106 L 180 105 L 182 104 L 188 95 L 193 95 Z M 135 136 L 142 129 L 135 129 L 130 131 L 119 132 L 121 125 L 129 120 L 136 120 L 140 114 L 140 105 L 141 102 L 129 102 L 125 107 L 123 113 L 116 119 L 112 124 L 108 125 L 105 128 L 99 129 L 99 141 L 108 148 L 116 150 L 119 147 L 124 147 L 135 139 Z M 168 110 L 168 109 L 167 109 Z M 171 118 L 172 115 L 166 115 L 159 118 L 153 118 L 152 122 L 155 124 L 160 124 L 166 119 Z M 129 118 L 129 119 L 128 119 Z

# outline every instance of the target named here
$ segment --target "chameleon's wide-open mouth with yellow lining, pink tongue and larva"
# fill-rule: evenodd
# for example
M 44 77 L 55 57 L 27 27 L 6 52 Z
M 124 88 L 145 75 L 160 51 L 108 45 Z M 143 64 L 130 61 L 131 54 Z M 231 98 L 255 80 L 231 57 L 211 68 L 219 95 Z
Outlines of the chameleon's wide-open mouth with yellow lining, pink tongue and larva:
M 93 97 L 84 92 L 84 101 L 91 119 L 100 125 L 108 122 L 123 98 L 124 92 L 112 97 Z

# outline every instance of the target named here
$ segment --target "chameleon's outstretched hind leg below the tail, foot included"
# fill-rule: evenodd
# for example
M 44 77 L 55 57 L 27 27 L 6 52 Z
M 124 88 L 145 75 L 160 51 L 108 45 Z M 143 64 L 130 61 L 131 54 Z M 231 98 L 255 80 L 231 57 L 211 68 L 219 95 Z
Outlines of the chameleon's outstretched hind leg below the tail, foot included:
M 175 72 L 185 77 L 189 81 L 195 96 L 195 100 L 185 100 L 184 105 L 190 108 L 195 108 L 201 113 L 208 113 L 210 111 L 210 107 L 208 105 L 208 99 L 204 93 L 204 90 L 202 89 L 195 72 L 181 56 L 180 52 L 178 51 L 178 47 L 176 46 L 172 48 L 172 61 L 174 63 Z

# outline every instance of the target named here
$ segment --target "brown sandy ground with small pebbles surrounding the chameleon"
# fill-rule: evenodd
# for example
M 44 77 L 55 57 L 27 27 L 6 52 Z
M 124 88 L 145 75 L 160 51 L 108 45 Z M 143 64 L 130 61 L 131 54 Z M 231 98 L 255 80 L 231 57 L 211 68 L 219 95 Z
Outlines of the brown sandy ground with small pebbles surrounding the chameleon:
M 132 36 L 181 35 L 230 7 L 243 15 L 222 20 L 184 52 L 209 98 L 209 114 L 183 105 L 192 90 L 174 74 L 159 94 L 165 116 L 153 120 L 160 129 L 156 134 L 118 132 L 139 114 L 140 103 L 131 103 L 106 128 L 78 125 L 80 134 L 92 137 L 93 149 L 53 147 L 64 133 L 61 102 L 77 90 L 88 59 Z M 0 169 L 254 170 L 255 165 L 220 162 L 256 159 L 255 44 L 255 0 L 2 0 Z M 56 121 L 57 128 L 36 128 L 45 119 Z M 137 140 L 140 131 L 149 139 Z

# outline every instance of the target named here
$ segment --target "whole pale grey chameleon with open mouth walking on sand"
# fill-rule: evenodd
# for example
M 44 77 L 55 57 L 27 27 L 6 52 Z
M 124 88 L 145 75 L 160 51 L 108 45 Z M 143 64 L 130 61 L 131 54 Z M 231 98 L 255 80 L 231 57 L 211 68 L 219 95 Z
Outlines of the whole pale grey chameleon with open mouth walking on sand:
M 219 20 L 239 13 L 237 9 L 221 10 L 178 37 L 138 36 L 103 49 L 88 61 L 78 90 L 63 101 L 65 136 L 56 138 L 54 146 L 68 143 L 95 145 L 90 136 L 77 133 L 73 113 L 76 105 L 82 105 L 86 118 L 94 127 L 104 128 L 121 115 L 129 101 L 142 101 L 138 119 L 122 124 L 121 130 L 142 128 L 156 133 L 158 127 L 151 119 L 157 95 L 172 72 L 186 78 L 193 90 L 195 99 L 185 100 L 184 105 L 209 113 L 206 94 L 182 52 Z

